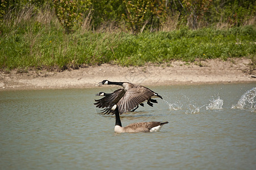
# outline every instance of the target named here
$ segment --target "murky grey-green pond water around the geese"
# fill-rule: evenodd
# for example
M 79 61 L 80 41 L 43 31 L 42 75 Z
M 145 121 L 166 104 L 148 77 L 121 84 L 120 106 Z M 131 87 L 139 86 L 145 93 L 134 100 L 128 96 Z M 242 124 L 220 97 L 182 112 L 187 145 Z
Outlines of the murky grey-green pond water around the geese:
M 115 117 L 93 105 L 118 87 L 0 91 L 0 169 L 255 169 L 255 87 L 151 86 L 163 100 L 122 124 L 169 124 L 132 134 L 115 134 Z

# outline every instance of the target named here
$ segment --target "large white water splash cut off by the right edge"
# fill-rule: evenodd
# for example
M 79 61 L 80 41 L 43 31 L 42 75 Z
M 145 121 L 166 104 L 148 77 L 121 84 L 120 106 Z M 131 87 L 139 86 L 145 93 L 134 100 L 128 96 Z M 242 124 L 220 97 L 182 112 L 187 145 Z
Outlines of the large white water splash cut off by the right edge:
M 256 112 L 256 87 L 247 90 L 244 95 L 240 97 L 236 105 L 232 105 L 232 109 L 251 109 Z

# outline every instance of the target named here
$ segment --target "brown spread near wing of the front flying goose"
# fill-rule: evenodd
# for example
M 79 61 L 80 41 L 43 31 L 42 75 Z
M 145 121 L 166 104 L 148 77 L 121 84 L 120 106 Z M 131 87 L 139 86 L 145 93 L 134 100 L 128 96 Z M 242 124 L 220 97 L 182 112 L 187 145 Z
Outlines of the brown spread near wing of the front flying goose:
M 117 103 L 119 113 L 122 114 L 131 111 L 140 103 L 149 100 L 152 96 L 154 96 L 152 91 L 142 86 L 139 88 L 130 88 Z

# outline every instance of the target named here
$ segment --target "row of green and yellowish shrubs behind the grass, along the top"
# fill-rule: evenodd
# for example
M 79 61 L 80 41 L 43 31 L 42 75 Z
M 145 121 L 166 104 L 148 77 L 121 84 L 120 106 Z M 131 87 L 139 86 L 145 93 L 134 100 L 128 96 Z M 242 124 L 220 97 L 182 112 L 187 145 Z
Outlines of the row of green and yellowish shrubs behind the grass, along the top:
M 230 28 L 255 24 L 256 15 L 253 0 L 1 0 L 0 20 L 30 7 L 36 13 L 45 5 L 56 10 L 57 18 L 68 33 L 81 28 L 84 21 L 94 31 L 108 27 L 124 31 L 125 26 L 126 31 L 132 33 L 170 30 L 164 28 L 172 25 L 192 29 L 212 25 Z M 177 21 L 173 16 L 178 16 Z M 5 27 L 3 22 L 0 31 L 2 27 Z

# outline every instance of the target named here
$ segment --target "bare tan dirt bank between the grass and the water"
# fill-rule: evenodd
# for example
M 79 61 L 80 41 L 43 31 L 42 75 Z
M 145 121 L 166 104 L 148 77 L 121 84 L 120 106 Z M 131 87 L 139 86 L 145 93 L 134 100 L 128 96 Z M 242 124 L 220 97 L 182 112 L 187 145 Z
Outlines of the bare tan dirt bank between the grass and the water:
M 209 59 L 194 63 L 174 61 L 159 66 L 121 67 L 104 64 L 86 68 L 48 72 L 46 70 L 28 73 L 0 73 L 1 90 L 40 88 L 85 88 L 95 87 L 98 82 L 132 82 L 148 85 L 203 84 L 255 82 L 256 70 L 250 69 L 251 60 L 234 58 L 229 61 Z

